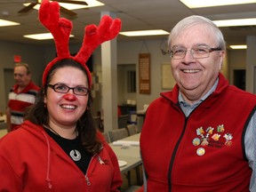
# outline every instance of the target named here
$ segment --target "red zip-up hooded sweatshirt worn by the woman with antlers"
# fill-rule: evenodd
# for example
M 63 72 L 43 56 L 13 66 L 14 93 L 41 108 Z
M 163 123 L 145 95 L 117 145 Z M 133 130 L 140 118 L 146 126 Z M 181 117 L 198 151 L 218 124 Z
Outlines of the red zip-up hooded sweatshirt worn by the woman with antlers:
M 100 164 L 98 156 L 105 164 Z M 119 191 L 121 173 L 113 150 L 103 143 L 86 176 L 43 127 L 26 121 L 0 140 L 0 191 Z

